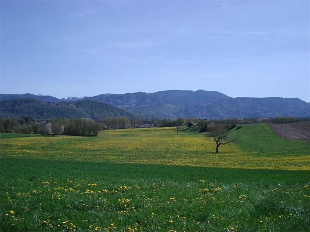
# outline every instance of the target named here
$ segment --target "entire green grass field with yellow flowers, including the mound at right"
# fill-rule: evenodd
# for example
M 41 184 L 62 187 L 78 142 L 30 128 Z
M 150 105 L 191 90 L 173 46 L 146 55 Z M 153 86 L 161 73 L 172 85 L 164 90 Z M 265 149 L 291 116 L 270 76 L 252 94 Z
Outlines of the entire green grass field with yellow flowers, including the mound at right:
M 236 134 L 1 134 L 1 231 L 309 231 L 309 142 Z

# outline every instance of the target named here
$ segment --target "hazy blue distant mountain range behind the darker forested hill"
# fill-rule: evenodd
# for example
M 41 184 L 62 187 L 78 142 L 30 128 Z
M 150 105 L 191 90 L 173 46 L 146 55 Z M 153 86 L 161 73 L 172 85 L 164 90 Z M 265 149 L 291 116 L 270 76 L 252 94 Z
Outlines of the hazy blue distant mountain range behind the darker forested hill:
M 45 107 L 55 107 L 50 103 L 57 103 L 59 108 L 68 108 L 68 106 L 83 103 L 83 110 L 92 116 L 100 118 L 102 116 L 96 113 L 94 116 L 89 113 L 92 110 L 91 102 L 108 104 L 125 110 L 127 113 L 135 112 L 138 116 L 148 118 L 178 118 L 178 117 L 196 117 L 196 118 L 244 118 L 244 117 L 277 117 L 277 116 L 297 116 L 309 117 L 310 105 L 298 98 L 282 97 L 229 97 L 217 91 L 189 91 L 189 90 L 167 90 L 155 93 L 126 93 L 126 94 L 101 94 L 92 97 L 70 97 L 58 99 L 52 96 L 32 95 L 32 94 L 0 94 L 1 99 L 1 116 L 3 113 L 9 115 L 11 112 L 10 104 L 2 109 L 6 100 L 18 98 L 35 98 L 39 101 L 46 102 Z M 38 102 L 37 102 L 38 103 Z M 42 104 L 42 103 L 40 103 Z M 85 108 L 85 105 L 89 107 Z M 77 107 L 78 108 L 78 107 Z M 103 107 L 104 108 L 104 107 Z M 30 108 L 29 111 L 36 109 Z M 29 112 L 28 112 L 29 113 Z M 19 114 L 22 114 L 20 112 Z M 59 113 L 61 114 L 61 113 Z M 94 114 L 94 112 L 93 112 Z M 137 116 L 137 115 L 136 115 Z

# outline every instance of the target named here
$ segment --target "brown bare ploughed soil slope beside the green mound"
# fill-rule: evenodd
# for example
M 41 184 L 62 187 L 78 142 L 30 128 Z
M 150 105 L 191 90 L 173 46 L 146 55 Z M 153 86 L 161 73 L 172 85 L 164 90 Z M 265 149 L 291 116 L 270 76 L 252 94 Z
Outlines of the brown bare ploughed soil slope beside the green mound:
M 270 123 L 269 125 L 281 137 L 309 141 L 309 121 L 284 124 Z

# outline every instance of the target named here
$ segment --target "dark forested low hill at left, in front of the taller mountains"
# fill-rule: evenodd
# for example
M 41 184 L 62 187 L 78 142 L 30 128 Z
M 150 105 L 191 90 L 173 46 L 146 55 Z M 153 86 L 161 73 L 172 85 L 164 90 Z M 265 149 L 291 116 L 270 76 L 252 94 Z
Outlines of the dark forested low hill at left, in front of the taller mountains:
M 128 112 L 117 107 L 89 100 L 75 102 L 44 102 L 34 98 L 18 98 L 1 101 L 1 117 L 29 116 L 35 119 L 50 119 L 52 117 L 92 118 L 100 120 L 106 117 L 124 116 L 144 120 L 146 117 Z

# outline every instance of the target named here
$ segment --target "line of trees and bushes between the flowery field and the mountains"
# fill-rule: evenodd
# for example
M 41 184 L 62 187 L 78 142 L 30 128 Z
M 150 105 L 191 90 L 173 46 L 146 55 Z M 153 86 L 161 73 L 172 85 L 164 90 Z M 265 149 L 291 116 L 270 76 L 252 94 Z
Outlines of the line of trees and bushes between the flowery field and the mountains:
M 227 130 L 235 127 L 237 124 L 252 123 L 292 123 L 300 121 L 309 121 L 309 118 L 299 118 L 292 116 L 282 116 L 276 118 L 226 118 L 226 119 L 198 119 L 198 118 L 177 118 L 177 119 L 160 119 L 145 120 L 143 123 L 147 127 L 196 127 L 199 132 L 206 132 L 212 124 L 223 124 Z M 127 117 L 107 117 L 100 121 L 94 121 L 87 118 L 67 119 L 52 118 L 43 123 L 37 123 L 31 117 L 2 117 L 1 132 L 5 133 L 24 133 L 24 134 L 53 134 L 53 135 L 74 135 L 74 136 L 97 136 L 100 130 L 117 130 L 126 128 L 141 127 L 136 119 Z

